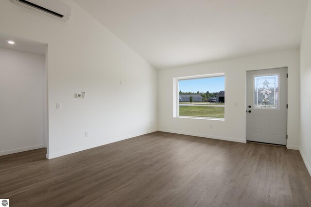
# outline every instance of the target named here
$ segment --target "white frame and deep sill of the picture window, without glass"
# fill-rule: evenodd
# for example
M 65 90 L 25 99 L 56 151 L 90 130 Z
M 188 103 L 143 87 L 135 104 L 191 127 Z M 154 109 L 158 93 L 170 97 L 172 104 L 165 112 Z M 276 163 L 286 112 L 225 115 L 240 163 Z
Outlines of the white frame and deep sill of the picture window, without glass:
M 225 77 L 225 73 L 214 73 L 214 74 L 173 78 L 173 117 L 186 118 L 186 119 L 205 119 L 205 120 L 225 121 L 225 117 L 224 118 L 213 118 L 213 117 L 180 116 L 179 115 L 179 80 L 204 79 L 204 78 L 213 78 L 213 77 L 220 77 L 220 76 Z

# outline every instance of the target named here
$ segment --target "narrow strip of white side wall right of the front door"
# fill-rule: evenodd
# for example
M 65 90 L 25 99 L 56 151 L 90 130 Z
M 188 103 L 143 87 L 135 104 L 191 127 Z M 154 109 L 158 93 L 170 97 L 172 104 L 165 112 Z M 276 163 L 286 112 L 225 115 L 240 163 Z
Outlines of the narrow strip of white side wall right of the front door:
M 300 152 L 311 175 L 311 2 L 300 46 Z

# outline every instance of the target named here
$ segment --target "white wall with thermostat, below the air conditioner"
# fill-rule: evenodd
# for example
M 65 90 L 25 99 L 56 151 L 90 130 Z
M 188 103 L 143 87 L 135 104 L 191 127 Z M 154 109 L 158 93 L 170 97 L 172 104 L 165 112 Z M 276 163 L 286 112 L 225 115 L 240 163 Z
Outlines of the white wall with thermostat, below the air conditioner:
M 47 157 L 155 131 L 155 68 L 72 0 L 62 1 L 72 11 L 66 23 L 0 1 L 0 32 L 48 44 Z M 85 99 L 74 97 L 82 91 Z

